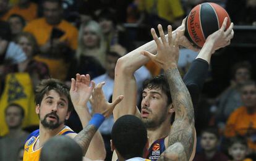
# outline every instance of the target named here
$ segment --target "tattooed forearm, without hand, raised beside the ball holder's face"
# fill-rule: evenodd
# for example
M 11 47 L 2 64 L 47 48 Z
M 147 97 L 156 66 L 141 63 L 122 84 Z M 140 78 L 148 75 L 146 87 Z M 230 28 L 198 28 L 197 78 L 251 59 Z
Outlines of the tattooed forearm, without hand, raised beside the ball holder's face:
M 186 119 L 188 122 L 194 122 L 194 109 L 189 91 L 182 81 L 177 65 L 164 70 L 167 77 L 171 97 L 175 110 L 175 120 Z

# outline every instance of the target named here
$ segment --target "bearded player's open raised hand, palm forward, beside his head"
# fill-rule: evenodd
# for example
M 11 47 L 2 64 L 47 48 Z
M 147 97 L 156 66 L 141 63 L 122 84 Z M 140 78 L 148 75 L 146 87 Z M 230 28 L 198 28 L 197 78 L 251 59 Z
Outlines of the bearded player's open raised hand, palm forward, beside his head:
M 80 75 L 77 73 L 76 78 L 71 79 L 70 98 L 75 109 L 85 108 L 94 88 L 95 82 L 90 80 L 88 74 Z

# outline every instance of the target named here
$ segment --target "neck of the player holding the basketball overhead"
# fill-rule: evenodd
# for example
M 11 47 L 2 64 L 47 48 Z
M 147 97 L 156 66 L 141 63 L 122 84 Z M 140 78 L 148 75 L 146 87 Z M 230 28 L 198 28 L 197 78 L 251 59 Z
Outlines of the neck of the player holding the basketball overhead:
M 149 146 L 151 146 L 151 144 L 153 144 L 153 142 L 157 139 L 168 136 L 170 130 L 171 124 L 169 119 L 166 119 L 163 123 L 161 123 L 160 126 L 157 126 L 156 128 L 147 128 Z

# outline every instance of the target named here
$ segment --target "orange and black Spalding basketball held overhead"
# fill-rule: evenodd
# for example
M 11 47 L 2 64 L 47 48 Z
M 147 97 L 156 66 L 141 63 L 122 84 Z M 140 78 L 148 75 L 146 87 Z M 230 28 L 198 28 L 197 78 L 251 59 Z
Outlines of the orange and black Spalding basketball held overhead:
M 227 29 L 231 22 L 223 7 L 212 2 L 198 4 L 187 16 L 185 36 L 192 44 L 202 48 L 207 37 L 221 28 L 225 17 L 228 17 Z

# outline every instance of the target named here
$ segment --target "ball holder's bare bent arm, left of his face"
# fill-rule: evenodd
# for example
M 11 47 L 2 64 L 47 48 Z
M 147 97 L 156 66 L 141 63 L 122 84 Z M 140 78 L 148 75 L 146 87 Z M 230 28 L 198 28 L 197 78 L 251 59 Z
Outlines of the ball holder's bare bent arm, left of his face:
M 182 22 L 182 25 L 180 27 L 173 31 L 173 36 L 175 37 L 177 31 L 182 31 L 183 34 L 181 34 L 179 44 L 187 47 L 188 49 L 193 49 L 194 51 L 197 51 L 198 49 L 195 49 L 184 36 L 184 29 L 185 21 Z M 127 114 L 140 116 L 140 112 L 136 108 L 137 86 L 134 78 L 134 72 L 142 67 L 142 65 L 145 65 L 149 60 L 147 57 L 140 54 L 140 52 L 142 51 L 148 51 L 156 54 L 157 48 L 155 41 L 150 41 L 143 46 L 140 46 L 134 51 L 126 54 L 126 56 L 121 57 L 117 61 L 113 98 L 119 96 L 120 94 L 123 94 L 124 100 L 114 109 L 114 120 L 117 120 L 117 118 Z

